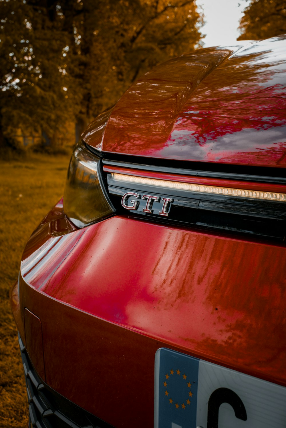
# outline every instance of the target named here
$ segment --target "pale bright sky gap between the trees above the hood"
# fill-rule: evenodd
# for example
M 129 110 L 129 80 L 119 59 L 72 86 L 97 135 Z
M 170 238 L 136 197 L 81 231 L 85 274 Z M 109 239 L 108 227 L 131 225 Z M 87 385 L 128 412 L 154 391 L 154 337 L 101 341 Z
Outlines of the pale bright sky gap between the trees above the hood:
M 206 24 L 201 31 L 206 34 L 204 47 L 230 45 L 240 33 L 237 28 L 248 1 L 245 0 L 196 0 L 202 6 Z

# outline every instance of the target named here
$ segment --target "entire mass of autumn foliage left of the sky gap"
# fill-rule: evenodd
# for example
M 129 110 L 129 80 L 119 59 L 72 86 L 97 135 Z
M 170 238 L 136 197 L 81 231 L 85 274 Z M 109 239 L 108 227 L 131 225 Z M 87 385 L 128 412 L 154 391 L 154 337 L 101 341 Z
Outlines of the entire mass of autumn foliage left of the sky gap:
M 81 128 L 140 74 L 199 46 L 194 0 L 0 0 L 0 140 Z

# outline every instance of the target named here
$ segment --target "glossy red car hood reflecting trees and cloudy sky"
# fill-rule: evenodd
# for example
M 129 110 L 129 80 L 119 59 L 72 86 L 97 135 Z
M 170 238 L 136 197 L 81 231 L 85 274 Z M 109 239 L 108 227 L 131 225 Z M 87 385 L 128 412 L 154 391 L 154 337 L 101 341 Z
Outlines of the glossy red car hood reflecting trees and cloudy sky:
M 285 167 L 286 36 L 239 43 L 158 65 L 84 140 L 124 155 Z

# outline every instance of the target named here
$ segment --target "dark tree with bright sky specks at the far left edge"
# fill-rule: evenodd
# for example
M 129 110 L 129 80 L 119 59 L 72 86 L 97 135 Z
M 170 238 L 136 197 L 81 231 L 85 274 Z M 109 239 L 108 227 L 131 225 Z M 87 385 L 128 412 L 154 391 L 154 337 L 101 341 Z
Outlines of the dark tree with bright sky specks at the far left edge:
M 59 72 L 65 35 L 53 29 L 52 39 L 45 17 L 22 0 L 0 2 L 0 15 L 0 144 L 13 143 L 18 128 L 53 137 L 71 110 Z

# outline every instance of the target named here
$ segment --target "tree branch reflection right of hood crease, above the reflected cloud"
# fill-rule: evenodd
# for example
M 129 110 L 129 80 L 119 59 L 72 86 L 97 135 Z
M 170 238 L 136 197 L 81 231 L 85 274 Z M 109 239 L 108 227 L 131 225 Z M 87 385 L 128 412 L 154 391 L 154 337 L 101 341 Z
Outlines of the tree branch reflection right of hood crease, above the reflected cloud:
M 187 101 L 187 111 L 177 121 L 177 130 L 187 127 L 196 134 L 196 142 L 204 144 L 210 138 L 215 140 L 245 128 L 268 129 L 285 124 L 286 85 L 268 86 L 274 74 L 285 70 L 269 69 L 273 64 L 261 64 L 261 57 L 234 57 L 207 77 Z

